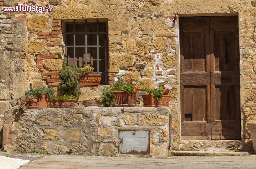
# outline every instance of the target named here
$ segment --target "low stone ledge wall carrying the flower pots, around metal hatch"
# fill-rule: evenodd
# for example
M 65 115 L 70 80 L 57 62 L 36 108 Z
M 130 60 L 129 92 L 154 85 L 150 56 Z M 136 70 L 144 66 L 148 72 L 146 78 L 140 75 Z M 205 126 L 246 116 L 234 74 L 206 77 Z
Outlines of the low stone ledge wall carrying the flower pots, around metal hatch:
M 169 112 L 160 108 L 65 108 L 31 109 L 24 114 L 10 112 L 12 151 L 44 150 L 56 154 L 118 154 L 118 130 L 150 130 L 150 155 L 167 157 Z M 7 149 L 6 148 L 6 149 Z

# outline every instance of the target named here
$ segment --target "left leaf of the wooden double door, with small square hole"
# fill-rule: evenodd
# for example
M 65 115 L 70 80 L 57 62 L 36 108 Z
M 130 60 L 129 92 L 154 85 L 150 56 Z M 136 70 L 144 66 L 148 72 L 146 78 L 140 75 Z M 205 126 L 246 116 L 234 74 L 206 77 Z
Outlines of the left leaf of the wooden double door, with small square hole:
M 181 139 L 210 139 L 210 19 L 181 17 Z

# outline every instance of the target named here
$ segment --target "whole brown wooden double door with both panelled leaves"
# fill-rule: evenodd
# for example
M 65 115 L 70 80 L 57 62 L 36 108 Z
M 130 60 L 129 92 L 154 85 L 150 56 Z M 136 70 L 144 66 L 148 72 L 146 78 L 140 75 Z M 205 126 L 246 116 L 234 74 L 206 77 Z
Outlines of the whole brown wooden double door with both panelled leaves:
M 240 139 L 238 17 L 180 18 L 181 139 Z

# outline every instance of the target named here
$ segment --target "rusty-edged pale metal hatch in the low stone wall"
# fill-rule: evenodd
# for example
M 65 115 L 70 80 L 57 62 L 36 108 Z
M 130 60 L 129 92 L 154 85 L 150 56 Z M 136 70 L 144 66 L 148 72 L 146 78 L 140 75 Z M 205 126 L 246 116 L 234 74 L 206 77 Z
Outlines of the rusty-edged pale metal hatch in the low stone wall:
M 119 153 L 150 154 L 150 130 L 119 130 Z

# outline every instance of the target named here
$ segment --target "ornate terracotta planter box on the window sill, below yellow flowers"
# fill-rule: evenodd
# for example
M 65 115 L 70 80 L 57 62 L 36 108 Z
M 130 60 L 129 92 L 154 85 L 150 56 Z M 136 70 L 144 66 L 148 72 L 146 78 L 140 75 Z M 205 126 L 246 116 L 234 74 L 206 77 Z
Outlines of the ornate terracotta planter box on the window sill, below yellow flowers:
M 100 74 L 79 76 L 79 84 L 81 86 L 98 86 L 100 85 L 100 80 L 101 80 Z

